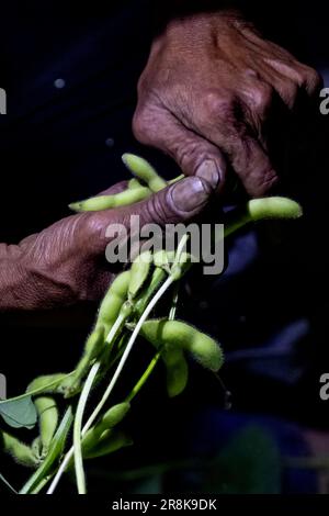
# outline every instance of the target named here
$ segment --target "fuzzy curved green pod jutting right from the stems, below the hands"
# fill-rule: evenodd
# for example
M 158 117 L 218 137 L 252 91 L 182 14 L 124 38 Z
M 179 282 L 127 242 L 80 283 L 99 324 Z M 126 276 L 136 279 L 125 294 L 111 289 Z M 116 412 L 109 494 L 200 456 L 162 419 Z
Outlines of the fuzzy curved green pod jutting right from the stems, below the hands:
M 224 356 L 218 344 L 208 335 L 181 321 L 149 319 L 140 334 L 155 346 L 173 346 L 189 351 L 204 368 L 218 371 Z

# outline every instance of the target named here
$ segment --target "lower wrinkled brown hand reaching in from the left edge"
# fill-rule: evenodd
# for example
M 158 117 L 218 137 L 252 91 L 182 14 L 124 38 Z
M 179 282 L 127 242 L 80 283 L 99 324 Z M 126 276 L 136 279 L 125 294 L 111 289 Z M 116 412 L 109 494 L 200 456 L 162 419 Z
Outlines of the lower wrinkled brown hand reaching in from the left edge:
M 125 182 L 104 193 L 117 193 Z M 80 213 L 56 222 L 16 246 L 0 245 L 0 310 L 36 310 L 97 301 L 117 272 L 105 260 L 106 229 L 112 224 L 129 228 L 131 215 L 140 226 L 163 225 L 196 216 L 207 204 L 209 184 L 197 178 L 113 210 Z

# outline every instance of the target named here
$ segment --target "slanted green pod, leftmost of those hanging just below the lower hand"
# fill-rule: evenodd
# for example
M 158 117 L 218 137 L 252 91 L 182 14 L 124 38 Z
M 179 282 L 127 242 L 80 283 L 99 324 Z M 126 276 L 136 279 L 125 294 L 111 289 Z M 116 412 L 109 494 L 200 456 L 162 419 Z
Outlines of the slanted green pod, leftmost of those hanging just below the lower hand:
M 109 333 L 115 323 L 124 302 L 127 300 L 129 282 L 129 270 L 118 274 L 111 283 L 110 289 L 100 305 L 97 327 L 99 325 L 103 325 L 105 327 L 105 334 Z

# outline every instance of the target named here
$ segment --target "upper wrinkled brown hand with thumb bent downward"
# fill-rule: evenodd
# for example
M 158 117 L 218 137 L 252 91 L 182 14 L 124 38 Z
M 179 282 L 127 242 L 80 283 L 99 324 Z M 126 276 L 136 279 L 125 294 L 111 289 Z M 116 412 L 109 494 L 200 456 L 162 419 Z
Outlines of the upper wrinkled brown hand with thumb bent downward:
M 291 113 L 303 110 L 300 98 L 314 99 L 321 85 L 314 69 L 237 13 L 194 14 L 171 21 L 154 42 L 133 130 L 185 175 L 220 191 L 234 170 L 249 195 L 261 197 L 280 176 L 268 132 L 279 101 Z

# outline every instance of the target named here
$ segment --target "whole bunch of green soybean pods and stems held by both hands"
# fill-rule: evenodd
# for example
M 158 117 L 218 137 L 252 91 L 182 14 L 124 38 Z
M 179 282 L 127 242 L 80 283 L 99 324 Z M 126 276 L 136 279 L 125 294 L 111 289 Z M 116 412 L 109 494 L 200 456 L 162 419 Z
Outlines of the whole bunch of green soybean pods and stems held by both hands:
M 124 192 L 99 195 L 73 203 L 70 207 L 73 211 L 98 211 L 132 204 L 182 179 L 179 176 L 172 181 L 164 181 L 138 156 L 125 154 L 123 161 L 135 176 Z M 300 206 L 288 199 L 253 200 L 228 213 L 225 236 L 250 222 L 296 218 L 300 215 Z M 116 277 L 100 304 L 82 357 L 73 371 L 38 377 L 30 383 L 26 393 L 0 402 L 1 414 L 1 406 L 5 408 L 5 403 L 14 404 L 24 399 L 27 403 L 33 400 L 38 420 L 39 436 L 31 445 L 19 441 L 7 430 L 0 430 L 3 451 L 11 453 L 18 462 L 36 468 L 22 487 L 22 494 L 38 493 L 49 482 L 47 493 L 54 493 L 63 473 L 72 468 L 78 492 L 84 494 L 87 481 L 83 460 L 113 453 L 132 445 L 129 435 L 121 425 L 160 359 L 167 370 L 167 391 L 171 397 L 181 394 L 188 384 L 189 358 L 213 372 L 222 368 L 224 354 L 219 344 L 175 318 L 179 283 L 191 267 L 191 256 L 185 251 L 186 240 L 188 235 L 183 235 L 178 248 L 171 254 L 143 253 L 134 260 L 131 269 Z M 172 291 L 172 302 L 167 313 L 159 314 L 160 318 L 149 318 L 169 290 Z M 138 336 L 150 343 L 155 355 L 125 399 L 106 406 Z M 105 382 L 107 385 L 103 394 L 95 406 L 90 408 L 84 422 L 91 391 L 97 389 L 98 393 Z M 67 410 L 59 422 L 58 406 L 63 404 L 67 404 Z M 71 426 L 73 442 L 67 447 Z

